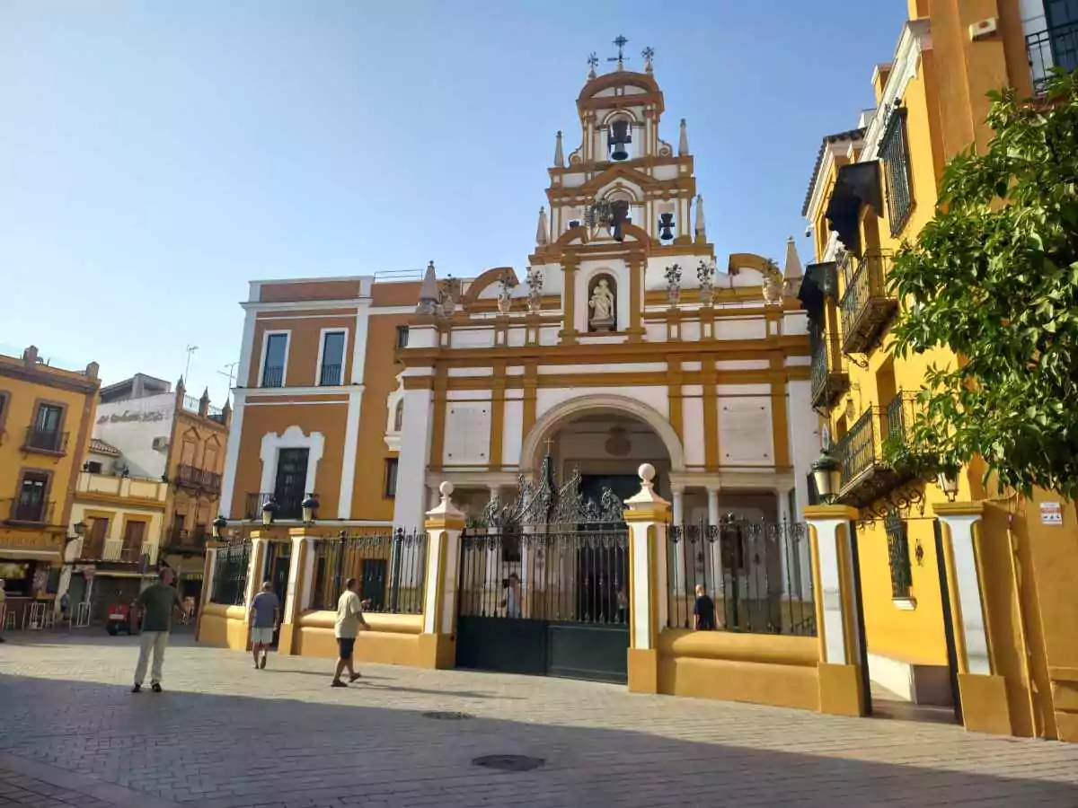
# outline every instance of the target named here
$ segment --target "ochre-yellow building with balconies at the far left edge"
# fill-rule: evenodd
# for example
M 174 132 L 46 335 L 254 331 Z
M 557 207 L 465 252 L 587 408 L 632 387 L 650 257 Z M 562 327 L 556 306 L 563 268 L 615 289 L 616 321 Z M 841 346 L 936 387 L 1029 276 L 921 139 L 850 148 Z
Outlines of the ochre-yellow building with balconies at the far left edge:
M 30 599 L 56 593 L 97 370 L 51 366 L 32 345 L 0 356 L 0 579 L 16 621 Z

